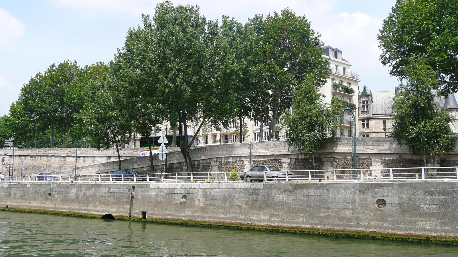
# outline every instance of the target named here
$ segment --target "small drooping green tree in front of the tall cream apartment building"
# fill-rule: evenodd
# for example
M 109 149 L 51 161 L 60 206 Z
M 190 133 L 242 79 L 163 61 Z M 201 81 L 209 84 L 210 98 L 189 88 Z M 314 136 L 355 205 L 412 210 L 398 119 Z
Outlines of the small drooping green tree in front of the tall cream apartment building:
M 312 160 L 317 150 L 335 140 L 343 112 L 342 103 L 323 103 L 316 86 L 307 83 L 295 92 L 293 110 L 282 117 L 282 123 L 289 127 L 287 143 L 302 150 Z

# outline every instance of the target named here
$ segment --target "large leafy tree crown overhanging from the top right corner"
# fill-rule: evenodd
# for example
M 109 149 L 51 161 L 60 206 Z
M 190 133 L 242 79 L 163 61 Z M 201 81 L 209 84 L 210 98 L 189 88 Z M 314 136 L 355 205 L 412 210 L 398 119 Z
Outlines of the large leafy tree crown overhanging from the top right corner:
M 411 56 L 427 60 L 442 94 L 458 91 L 458 3 L 397 0 L 378 35 L 380 60 L 390 74 L 407 79 Z

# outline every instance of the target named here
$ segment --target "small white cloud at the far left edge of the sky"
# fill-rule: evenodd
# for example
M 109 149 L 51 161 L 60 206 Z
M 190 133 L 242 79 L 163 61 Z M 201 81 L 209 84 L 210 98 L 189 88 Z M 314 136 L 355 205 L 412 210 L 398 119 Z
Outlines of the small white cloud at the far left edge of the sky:
M 24 24 L 5 9 L 0 9 L 0 50 L 6 50 L 24 36 Z

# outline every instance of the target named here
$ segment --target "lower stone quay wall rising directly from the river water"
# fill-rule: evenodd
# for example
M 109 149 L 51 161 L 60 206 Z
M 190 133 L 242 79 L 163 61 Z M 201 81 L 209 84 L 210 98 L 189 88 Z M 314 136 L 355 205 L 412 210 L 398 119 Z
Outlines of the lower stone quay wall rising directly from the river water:
M 458 239 L 458 181 L 0 184 L 0 206 Z

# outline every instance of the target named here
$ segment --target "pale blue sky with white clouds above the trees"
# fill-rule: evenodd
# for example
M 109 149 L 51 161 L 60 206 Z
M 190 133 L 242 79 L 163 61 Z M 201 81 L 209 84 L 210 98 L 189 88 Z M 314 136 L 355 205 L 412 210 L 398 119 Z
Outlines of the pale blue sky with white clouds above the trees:
M 122 48 L 129 28 L 154 13 L 155 0 L 0 0 L 0 115 L 8 114 L 22 86 L 49 65 L 76 60 L 81 67 L 108 63 Z M 207 20 L 235 17 L 245 23 L 255 14 L 290 8 L 305 15 L 325 45 L 339 48 L 372 91 L 399 84 L 382 66 L 377 34 L 396 0 L 173 0 L 199 5 Z

